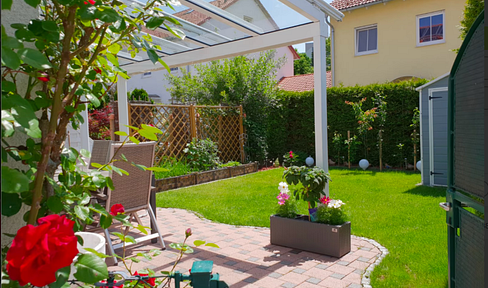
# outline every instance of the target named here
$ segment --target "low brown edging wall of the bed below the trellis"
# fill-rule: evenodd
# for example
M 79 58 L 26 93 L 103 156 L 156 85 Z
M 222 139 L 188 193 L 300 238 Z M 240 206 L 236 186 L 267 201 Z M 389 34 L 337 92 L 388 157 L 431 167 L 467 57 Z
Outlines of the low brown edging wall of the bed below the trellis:
M 226 167 L 204 172 L 195 172 L 188 175 L 170 177 L 156 180 L 156 191 L 162 192 L 171 189 L 187 187 L 215 180 L 231 178 L 258 171 L 258 163 L 243 164 L 235 167 Z

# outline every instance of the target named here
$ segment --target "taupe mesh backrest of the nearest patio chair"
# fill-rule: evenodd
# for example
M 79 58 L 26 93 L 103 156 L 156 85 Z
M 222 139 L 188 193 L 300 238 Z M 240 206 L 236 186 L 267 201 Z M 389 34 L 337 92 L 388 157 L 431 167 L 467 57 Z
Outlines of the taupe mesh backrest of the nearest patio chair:
M 147 208 L 152 171 L 143 171 L 131 163 L 152 167 L 156 142 L 126 143 L 122 147 L 121 145 L 122 143 L 113 143 L 110 155 L 115 155 L 114 159 L 119 160 L 115 161 L 113 166 L 124 169 L 129 175 L 120 176 L 116 172 L 111 172 L 115 190 L 108 191 L 107 210 L 113 204 L 122 204 L 126 212 Z M 122 160 L 122 154 L 127 158 L 127 162 Z

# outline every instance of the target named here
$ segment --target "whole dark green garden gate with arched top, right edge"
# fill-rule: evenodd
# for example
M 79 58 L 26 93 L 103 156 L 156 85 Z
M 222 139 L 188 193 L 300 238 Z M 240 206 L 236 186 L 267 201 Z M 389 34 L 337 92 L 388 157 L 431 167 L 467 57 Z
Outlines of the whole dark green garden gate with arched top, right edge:
M 484 11 L 449 77 L 448 265 L 450 288 L 484 285 Z

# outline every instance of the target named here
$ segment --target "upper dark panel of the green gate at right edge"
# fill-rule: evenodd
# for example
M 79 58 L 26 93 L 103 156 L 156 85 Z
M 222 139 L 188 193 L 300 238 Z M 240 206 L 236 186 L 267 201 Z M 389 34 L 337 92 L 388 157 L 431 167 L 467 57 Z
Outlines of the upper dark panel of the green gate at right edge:
M 454 186 L 478 197 L 484 195 L 483 36 L 484 21 L 462 51 L 454 75 Z

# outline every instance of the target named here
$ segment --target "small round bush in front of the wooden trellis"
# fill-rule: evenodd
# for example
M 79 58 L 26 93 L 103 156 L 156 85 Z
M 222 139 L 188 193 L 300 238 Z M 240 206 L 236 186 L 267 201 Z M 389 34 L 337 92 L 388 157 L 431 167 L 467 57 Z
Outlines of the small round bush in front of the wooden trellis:
M 219 164 L 217 144 L 210 139 L 193 139 L 183 150 L 192 169 L 206 171 L 216 168 Z

